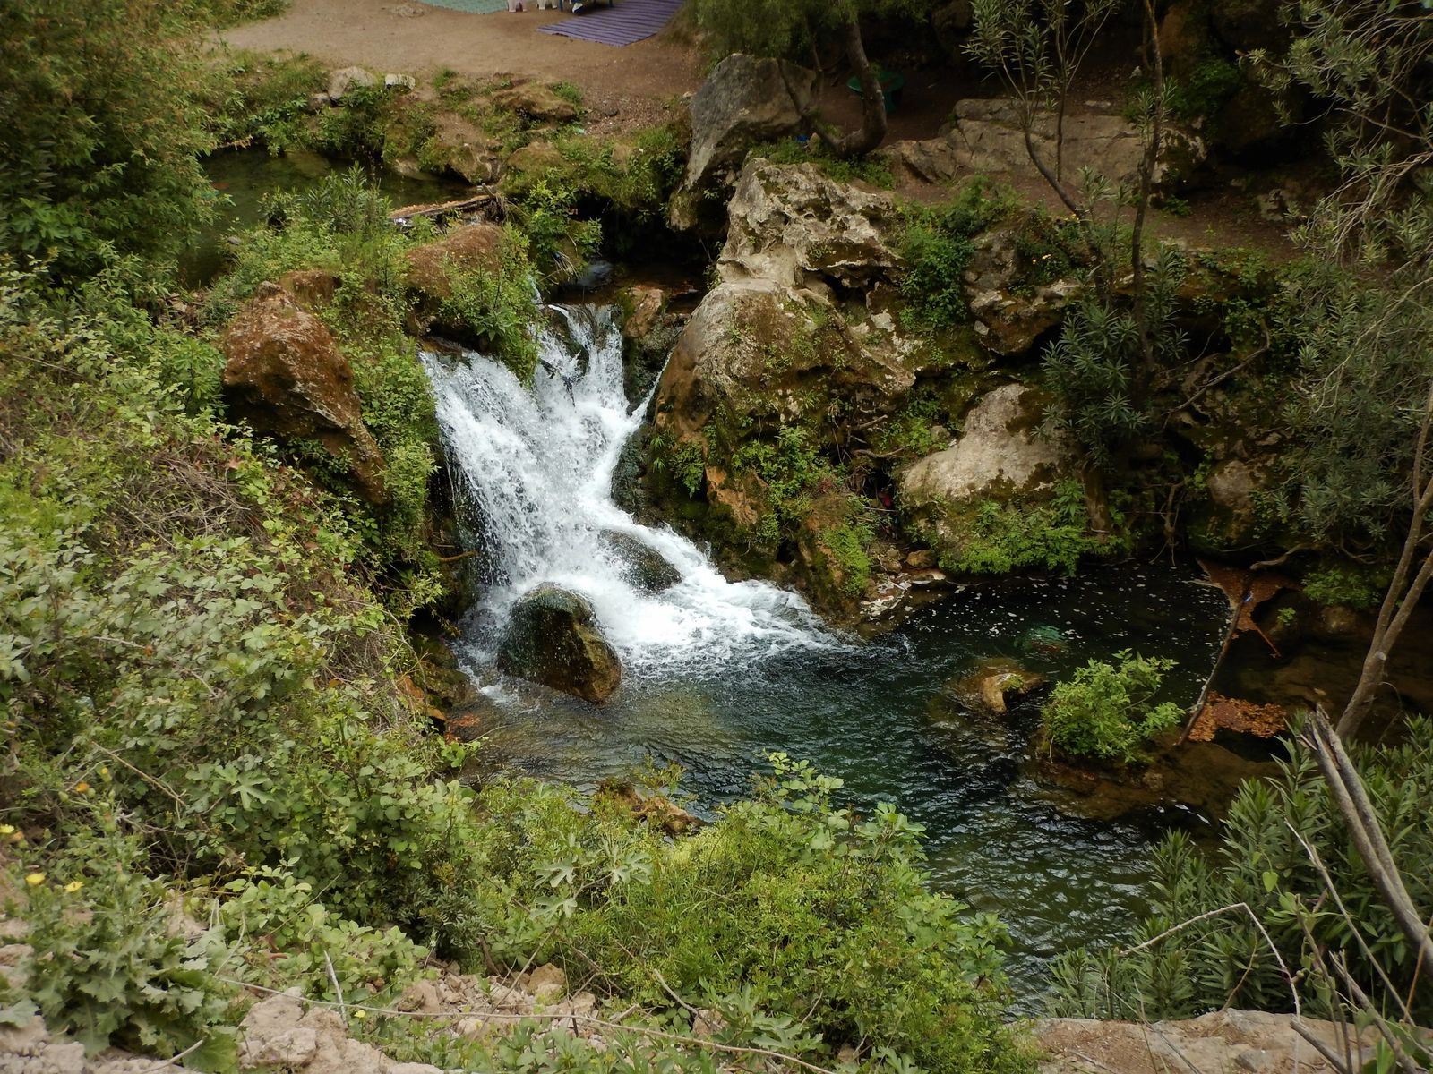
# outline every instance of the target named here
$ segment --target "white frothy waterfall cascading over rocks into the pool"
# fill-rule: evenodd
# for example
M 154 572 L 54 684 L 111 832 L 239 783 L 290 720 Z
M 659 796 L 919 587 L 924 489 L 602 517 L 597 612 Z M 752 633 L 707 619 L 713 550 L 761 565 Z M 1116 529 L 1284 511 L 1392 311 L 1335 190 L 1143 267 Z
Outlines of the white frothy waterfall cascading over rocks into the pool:
M 689 540 L 613 503 L 612 474 L 645 404 L 623 394 L 612 309 L 553 309 L 530 387 L 480 354 L 420 355 L 454 478 L 479 516 L 487 584 L 469 624 L 476 659 L 492 656 L 513 603 L 545 581 L 592 603 L 629 679 L 714 674 L 838 644 L 795 593 L 727 581 Z M 656 594 L 635 589 L 605 530 L 655 548 L 681 581 Z

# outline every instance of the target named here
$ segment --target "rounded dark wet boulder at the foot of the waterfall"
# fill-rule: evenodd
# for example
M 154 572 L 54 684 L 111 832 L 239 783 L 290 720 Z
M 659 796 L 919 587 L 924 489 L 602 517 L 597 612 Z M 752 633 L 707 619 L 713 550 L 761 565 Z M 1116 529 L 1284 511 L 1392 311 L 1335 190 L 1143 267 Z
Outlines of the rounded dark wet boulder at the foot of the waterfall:
M 598 629 L 592 604 L 559 586 L 539 586 L 517 601 L 497 666 L 596 705 L 622 683 L 622 662 Z

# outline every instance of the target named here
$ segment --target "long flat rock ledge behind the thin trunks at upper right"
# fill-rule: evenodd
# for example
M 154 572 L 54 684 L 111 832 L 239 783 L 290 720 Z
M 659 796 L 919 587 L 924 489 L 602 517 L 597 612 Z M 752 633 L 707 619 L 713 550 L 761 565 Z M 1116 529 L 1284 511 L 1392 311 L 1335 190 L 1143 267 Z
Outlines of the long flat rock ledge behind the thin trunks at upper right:
M 1037 113 L 1032 140 L 1040 159 L 1052 169 L 1055 135 L 1055 113 Z M 949 129 L 940 137 L 896 142 L 884 153 L 893 163 L 927 182 L 946 182 L 959 175 L 1029 172 L 1032 168 L 1020 129 L 1020 106 L 1006 97 L 962 100 L 956 105 Z M 1168 125 L 1155 163 L 1155 186 L 1164 190 L 1185 186 L 1197 178 L 1207 155 L 1204 139 L 1197 132 Z M 1111 182 L 1132 182 L 1138 178 L 1142 156 L 1139 130 L 1123 116 L 1113 112 L 1079 112 L 1065 117 L 1065 176 L 1075 178 L 1080 169 L 1091 168 Z

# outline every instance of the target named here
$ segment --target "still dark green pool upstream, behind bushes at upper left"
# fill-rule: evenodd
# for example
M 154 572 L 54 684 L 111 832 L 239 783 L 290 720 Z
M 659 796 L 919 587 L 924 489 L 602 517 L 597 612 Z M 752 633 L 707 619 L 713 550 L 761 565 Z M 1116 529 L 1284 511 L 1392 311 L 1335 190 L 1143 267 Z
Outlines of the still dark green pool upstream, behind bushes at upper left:
M 274 156 L 267 149 L 235 149 L 206 158 L 205 175 L 225 200 L 219 203 L 215 219 L 179 258 L 181 279 L 188 286 L 203 286 L 219 275 L 232 249 L 228 236 L 262 223 L 271 195 L 308 190 L 324 176 L 350 166 L 318 153 Z M 463 183 L 404 176 L 385 168 L 365 168 L 365 172 L 394 208 L 450 200 L 471 190 Z

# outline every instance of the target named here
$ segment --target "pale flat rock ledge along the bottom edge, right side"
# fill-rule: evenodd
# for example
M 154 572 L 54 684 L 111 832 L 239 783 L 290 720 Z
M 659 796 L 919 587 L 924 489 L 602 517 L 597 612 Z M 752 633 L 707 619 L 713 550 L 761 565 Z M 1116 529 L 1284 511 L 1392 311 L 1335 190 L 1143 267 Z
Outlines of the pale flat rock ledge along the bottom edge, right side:
M 1343 1037 L 1333 1022 L 1304 1018 L 1303 1024 L 1333 1054 L 1344 1054 Z M 1294 1030 L 1294 1017 L 1288 1014 L 1227 1010 L 1148 1024 L 1046 1018 L 1030 1030 L 1045 1053 L 1040 1074 L 1333 1074 Z M 1371 1051 L 1367 1047 L 1370 1058 Z

